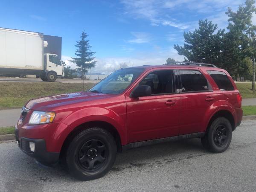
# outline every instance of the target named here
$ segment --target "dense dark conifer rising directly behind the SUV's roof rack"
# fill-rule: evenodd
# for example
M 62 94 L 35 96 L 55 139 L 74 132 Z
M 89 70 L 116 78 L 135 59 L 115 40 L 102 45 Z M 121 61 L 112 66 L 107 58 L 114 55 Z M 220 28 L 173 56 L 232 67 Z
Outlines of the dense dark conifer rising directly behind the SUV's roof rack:
M 219 66 L 222 63 L 224 29 L 218 30 L 217 24 L 211 21 L 199 20 L 199 27 L 194 32 L 184 32 L 183 47 L 174 45 L 179 55 L 185 56 L 185 61 L 211 63 Z

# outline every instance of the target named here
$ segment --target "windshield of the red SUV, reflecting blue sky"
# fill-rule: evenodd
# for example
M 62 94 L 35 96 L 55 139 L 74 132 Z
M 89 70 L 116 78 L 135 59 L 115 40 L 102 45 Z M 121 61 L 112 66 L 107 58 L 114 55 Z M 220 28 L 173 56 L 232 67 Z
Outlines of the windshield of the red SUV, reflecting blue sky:
M 144 68 L 126 68 L 117 70 L 96 84 L 89 90 L 89 92 L 106 94 L 122 93 L 144 70 Z

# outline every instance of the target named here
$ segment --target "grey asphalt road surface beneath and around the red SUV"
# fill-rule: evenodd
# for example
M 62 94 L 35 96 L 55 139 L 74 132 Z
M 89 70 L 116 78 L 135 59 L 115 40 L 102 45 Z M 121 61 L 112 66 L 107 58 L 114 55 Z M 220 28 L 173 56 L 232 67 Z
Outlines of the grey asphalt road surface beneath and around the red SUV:
M 221 154 L 199 139 L 136 148 L 118 154 L 111 172 L 78 181 L 60 166 L 42 167 L 15 142 L 0 144 L 0 191 L 255 191 L 256 121 L 244 121 Z

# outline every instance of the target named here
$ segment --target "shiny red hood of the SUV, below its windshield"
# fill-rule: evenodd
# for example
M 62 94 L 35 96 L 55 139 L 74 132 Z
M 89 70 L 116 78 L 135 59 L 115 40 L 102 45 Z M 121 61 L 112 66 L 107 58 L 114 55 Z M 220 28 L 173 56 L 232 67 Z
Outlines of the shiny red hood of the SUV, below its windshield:
M 73 105 L 76 103 L 87 102 L 96 99 L 105 99 L 111 96 L 113 95 L 92 92 L 78 92 L 55 96 L 46 96 L 30 100 L 26 104 L 26 108 L 38 111 L 49 111 L 51 109 L 56 109 L 71 104 Z

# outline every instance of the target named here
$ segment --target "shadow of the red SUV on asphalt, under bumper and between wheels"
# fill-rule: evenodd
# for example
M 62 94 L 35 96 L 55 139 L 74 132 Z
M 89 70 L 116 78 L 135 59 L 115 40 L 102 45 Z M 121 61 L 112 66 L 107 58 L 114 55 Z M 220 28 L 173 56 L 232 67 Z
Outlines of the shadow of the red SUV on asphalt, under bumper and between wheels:
M 21 151 L 19 152 L 21 161 L 13 164 L 15 170 L 18 170 L 14 172 L 15 175 L 32 175 L 39 183 L 57 182 L 58 180 L 77 181 L 60 164 L 54 167 L 43 166 L 37 163 L 32 157 L 26 156 Z M 117 154 L 116 162 L 109 174 L 107 174 L 107 177 L 111 177 L 115 172 L 124 172 L 125 174 L 125 169 L 143 169 L 144 166 L 162 166 L 163 163 L 188 160 L 206 154 L 208 152 L 201 145 L 200 139 L 197 138 L 134 148 Z M 12 161 L 12 159 L 10 160 Z M 13 161 L 15 162 L 17 160 Z M 15 180 L 15 182 L 19 181 Z

